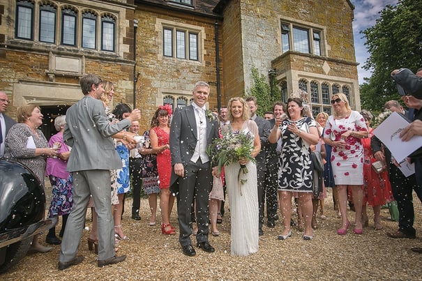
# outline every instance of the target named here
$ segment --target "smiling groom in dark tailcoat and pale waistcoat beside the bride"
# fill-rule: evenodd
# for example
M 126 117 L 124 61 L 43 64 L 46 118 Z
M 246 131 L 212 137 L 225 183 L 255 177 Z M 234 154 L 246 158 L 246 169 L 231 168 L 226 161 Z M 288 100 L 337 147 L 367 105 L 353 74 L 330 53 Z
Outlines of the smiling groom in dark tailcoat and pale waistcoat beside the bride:
M 211 158 L 206 146 L 218 136 L 216 116 L 206 111 L 209 84 L 199 81 L 193 88 L 193 103 L 187 107 L 176 107 L 170 128 L 170 151 L 172 153 L 171 185 L 179 183 L 178 214 L 179 243 L 183 254 L 194 256 L 195 249 L 190 241 L 192 234 L 191 213 L 196 202 L 195 214 L 198 231 L 197 247 L 205 252 L 214 252 L 208 242 L 209 192 L 212 188 Z

